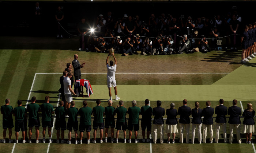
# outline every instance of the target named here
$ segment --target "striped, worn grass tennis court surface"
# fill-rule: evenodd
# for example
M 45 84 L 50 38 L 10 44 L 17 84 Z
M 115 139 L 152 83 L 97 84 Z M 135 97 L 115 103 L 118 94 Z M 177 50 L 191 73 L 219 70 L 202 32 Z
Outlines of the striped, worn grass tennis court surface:
M 67 45 L 65 42 L 62 42 L 62 44 Z M 60 88 L 59 78 L 66 63 L 71 63 L 73 55 L 78 54 L 78 60 L 86 62 L 86 67 L 81 69 L 82 79 L 90 81 L 94 94 L 90 98 L 74 97 L 76 107 L 82 107 L 84 99 L 88 101 L 89 107 L 94 107 L 97 98 L 101 99 L 103 107 L 107 106 L 107 99 L 109 98 L 105 67 L 107 54 L 76 50 L 31 49 L 24 46 L 21 47 L 23 49 L 18 49 L 18 45 L 15 47 L 16 49 L 0 50 L 1 105 L 4 105 L 6 98 L 10 98 L 11 106 L 16 107 L 18 99 L 21 99 L 23 106 L 25 106 L 32 96 L 35 96 L 37 103 L 41 104 L 44 102 L 44 97 L 48 95 L 50 103 L 54 108 L 57 107 L 59 102 L 58 90 Z M 162 107 L 165 109 L 170 107 L 171 102 L 174 102 L 176 104 L 175 108 L 178 109 L 182 105 L 183 99 L 188 100 L 188 106 L 191 108 L 194 107 L 195 101 L 199 101 L 202 109 L 206 107 L 205 102 L 207 100 L 210 100 L 211 107 L 215 108 L 220 98 L 224 99 L 224 105 L 227 107 L 232 105 L 231 101 L 233 99 L 237 99 L 238 106 L 243 109 L 245 109 L 248 102 L 251 102 L 253 107 L 256 105 L 256 83 L 253 77 L 255 76 L 256 59 L 241 65 L 239 63 L 240 51 L 211 51 L 207 54 L 197 52 L 166 56 L 132 55 L 123 57 L 117 55 L 116 58 L 118 96 L 124 101 L 127 108 L 131 106 L 132 100 L 138 101 L 138 107 L 143 106 L 146 98 L 150 100 L 151 107 L 156 107 L 156 101 L 161 100 Z M 114 90 L 112 94 L 114 95 Z M 117 101 L 114 101 L 113 106 L 116 107 L 117 103 Z M 2 119 L 0 119 L 0 125 L 2 126 Z M 213 130 L 215 133 L 215 129 Z M 3 129 L 0 127 L 0 140 L 3 136 L 2 133 Z M 138 133 L 141 134 L 141 131 Z M 41 136 L 42 131 L 40 131 Z M 56 137 L 56 133 L 53 130 L 54 137 Z M 176 134 L 176 137 L 179 137 L 179 133 Z M 21 134 L 19 138 L 21 138 Z M 255 140 L 255 134 L 252 138 Z M 14 128 L 12 139 L 15 139 Z M 83 140 L 84 143 L 85 141 Z M 234 140 L 234 144 L 207 143 L 200 145 L 179 144 L 177 140 L 176 144 L 123 144 L 121 142 L 118 144 L 97 143 L 90 145 L 56 143 L 50 145 L 48 143 L 14 145 L 13 143 L 0 143 L 0 148 L 1 152 L 10 153 L 91 152 L 91 150 L 95 152 L 167 152 L 170 150 L 174 152 L 244 152 L 244 150 L 255 152 L 254 144 L 243 143 L 245 142 L 244 138 L 242 144 L 237 144 L 236 140 Z M 222 141 L 220 140 L 220 142 Z

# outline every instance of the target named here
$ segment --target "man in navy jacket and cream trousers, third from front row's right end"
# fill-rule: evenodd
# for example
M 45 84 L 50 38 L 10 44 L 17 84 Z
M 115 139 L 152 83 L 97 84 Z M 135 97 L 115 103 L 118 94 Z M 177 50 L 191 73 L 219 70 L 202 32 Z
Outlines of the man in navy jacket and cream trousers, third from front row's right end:
M 227 115 L 227 107 L 223 105 L 224 100 L 219 99 L 219 106 L 215 107 L 215 114 L 217 114 L 216 117 L 216 137 L 215 137 L 215 143 L 218 143 L 219 141 L 219 129 L 222 126 L 222 131 L 223 131 L 223 138 L 224 138 L 224 143 L 227 142 L 227 132 L 226 132 L 226 115 Z

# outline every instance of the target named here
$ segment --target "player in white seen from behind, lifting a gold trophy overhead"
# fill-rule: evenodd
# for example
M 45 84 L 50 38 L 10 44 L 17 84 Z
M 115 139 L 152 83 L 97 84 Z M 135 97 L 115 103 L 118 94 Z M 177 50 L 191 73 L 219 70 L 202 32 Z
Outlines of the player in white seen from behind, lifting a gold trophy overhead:
M 117 89 L 116 89 L 116 57 L 114 56 L 114 53 L 112 53 L 112 55 L 114 57 L 115 63 L 113 62 L 113 60 L 110 60 L 110 62 L 108 63 L 110 54 L 108 55 L 108 58 L 106 60 L 107 69 L 108 69 L 107 79 L 108 79 L 108 88 L 109 88 L 109 100 L 112 101 L 111 86 L 113 85 L 115 90 L 115 95 L 116 95 L 116 101 L 118 101 L 120 98 L 117 96 Z

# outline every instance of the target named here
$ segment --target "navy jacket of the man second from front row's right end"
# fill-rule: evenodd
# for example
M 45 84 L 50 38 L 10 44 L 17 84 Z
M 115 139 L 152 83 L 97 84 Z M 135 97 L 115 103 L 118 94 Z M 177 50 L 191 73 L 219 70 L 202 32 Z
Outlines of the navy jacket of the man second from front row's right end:
M 227 110 L 227 114 L 230 115 L 229 117 L 229 123 L 230 124 L 241 124 L 239 115 L 242 115 L 241 108 L 233 105 L 229 107 Z

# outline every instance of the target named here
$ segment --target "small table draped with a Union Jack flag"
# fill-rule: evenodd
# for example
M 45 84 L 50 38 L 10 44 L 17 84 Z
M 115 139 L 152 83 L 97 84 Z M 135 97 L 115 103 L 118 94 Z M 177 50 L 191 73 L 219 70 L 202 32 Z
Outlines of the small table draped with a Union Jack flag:
M 75 87 L 74 87 L 77 97 L 79 96 L 78 88 L 80 86 L 82 86 L 82 96 L 83 96 L 83 87 L 86 88 L 86 93 L 87 93 L 88 97 L 90 97 L 90 95 L 93 94 L 93 89 L 91 88 L 91 84 L 90 84 L 89 80 L 79 79 L 79 80 L 76 80 Z

